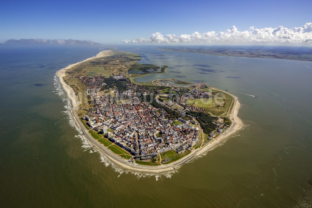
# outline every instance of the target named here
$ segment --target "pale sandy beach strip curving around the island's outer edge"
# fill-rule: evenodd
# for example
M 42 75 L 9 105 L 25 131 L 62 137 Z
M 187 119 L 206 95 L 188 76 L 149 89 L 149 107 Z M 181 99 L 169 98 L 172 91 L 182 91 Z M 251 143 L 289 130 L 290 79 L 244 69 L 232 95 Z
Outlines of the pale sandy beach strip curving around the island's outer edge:
M 64 91 L 66 92 L 68 98 L 71 101 L 71 104 L 73 106 L 71 113 L 72 113 L 73 119 L 76 122 L 77 126 L 80 127 L 81 131 L 84 132 L 84 135 L 88 138 L 88 140 L 94 146 L 97 147 L 98 150 L 100 150 L 112 163 L 119 166 L 120 168 L 129 170 L 129 171 L 135 171 L 135 172 L 156 173 L 156 174 L 176 171 L 176 169 L 179 166 L 183 165 L 184 163 L 191 160 L 192 158 L 194 158 L 196 156 L 203 155 L 208 150 L 211 150 L 211 149 L 221 145 L 222 142 L 226 141 L 231 135 L 233 135 L 234 133 L 236 133 L 238 130 L 240 130 L 243 127 L 243 123 L 242 123 L 241 119 L 237 116 L 239 108 L 241 105 L 238 102 L 237 97 L 230 94 L 231 96 L 234 97 L 234 106 L 233 106 L 231 114 L 229 115 L 229 117 L 232 120 L 232 125 L 230 126 L 230 128 L 227 129 L 226 131 L 224 131 L 216 139 L 213 139 L 212 141 L 207 143 L 205 146 L 202 146 L 201 148 L 192 151 L 188 156 L 185 156 L 185 157 L 181 158 L 180 160 L 174 161 L 168 165 L 142 166 L 142 165 L 138 165 L 138 164 L 132 164 L 132 163 L 128 162 L 127 160 L 124 160 L 120 156 L 115 155 L 108 148 L 103 146 L 99 141 L 93 139 L 89 135 L 88 131 L 86 131 L 86 129 L 84 128 L 82 123 L 79 121 L 79 117 L 76 114 L 76 110 L 78 109 L 79 102 L 76 99 L 76 95 L 75 95 L 75 92 L 73 91 L 73 89 L 70 86 L 68 86 L 66 84 L 66 82 L 64 82 L 64 80 L 63 80 L 63 77 L 66 76 L 66 74 L 65 74 L 66 70 L 70 69 L 71 67 L 76 66 L 77 64 L 80 64 L 82 62 L 94 59 L 94 58 L 109 56 L 112 53 L 113 53 L 112 51 L 102 51 L 102 52 L 98 53 L 95 57 L 87 58 L 84 61 L 77 62 L 75 64 L 71 64 L 71 65 L 61 69 L 60 71 L 58 71 L 56 73 L 56 75 L 57 75 L 57 77 L 59 77 L 61 85 L 62 85 Z M 227 94 L 229 94 L 229 93 L 227 93 Z

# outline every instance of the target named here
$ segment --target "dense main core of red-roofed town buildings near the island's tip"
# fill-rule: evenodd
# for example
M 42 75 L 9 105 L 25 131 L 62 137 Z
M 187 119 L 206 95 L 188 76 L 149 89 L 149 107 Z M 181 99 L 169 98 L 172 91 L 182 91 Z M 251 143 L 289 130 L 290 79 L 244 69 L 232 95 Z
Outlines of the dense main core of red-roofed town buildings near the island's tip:
M 123 79 L 120 76 L 113 78 Z M 82 119 L 90 128 L 101 131 L 110 141 L 133 154 L 135 159 L 149 160 L 170 150 L 190 150 L 197 143 L 198 129 L 189 121 L 182 119 L 183 124 L 175 126 L 163 108 L 136 102 L 140 94 L 135 92 L 134 84 L 129 83 L 126 91 L 115 92 L 114 96 L 104 96 L 95 90 L 102 85 L 98 79 L 82 77 L 81 80 L 88 83 L 88 88 L 91 87 L 89 92 L 95 101 L 94 110 Z M 131 99 L 131 102 L 117 102 L 120 99 Z

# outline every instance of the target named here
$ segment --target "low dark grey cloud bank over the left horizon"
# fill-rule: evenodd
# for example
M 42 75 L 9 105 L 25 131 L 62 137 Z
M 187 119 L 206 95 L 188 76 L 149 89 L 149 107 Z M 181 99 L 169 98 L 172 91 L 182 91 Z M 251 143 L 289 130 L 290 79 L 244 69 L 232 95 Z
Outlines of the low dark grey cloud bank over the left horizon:
M 72 40 L 72 39 L 10 39 L 4 44 L 38 44 L 38 45 L 97 45 L 99 43 L 90 40 Z

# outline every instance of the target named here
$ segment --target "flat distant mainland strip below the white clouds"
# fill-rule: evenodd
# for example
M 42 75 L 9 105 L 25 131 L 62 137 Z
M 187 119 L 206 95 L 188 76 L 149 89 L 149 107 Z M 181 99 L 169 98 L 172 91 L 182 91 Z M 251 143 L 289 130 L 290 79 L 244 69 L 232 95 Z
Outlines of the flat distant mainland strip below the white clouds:
M 300 61 L 312 61 L 312 49 L 310 47 L 294 50 L 293 47 L 282 46 L 235 46 L 235 47 L 162 47 L 168 51 L 195 52 L 219 56 L 253 57 L 253 58 L 278 58 Z

